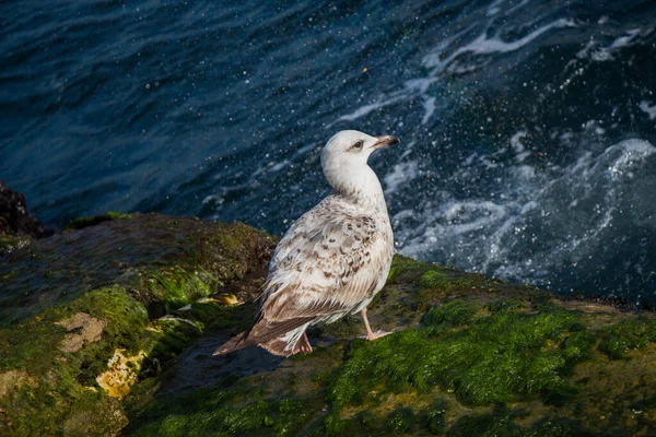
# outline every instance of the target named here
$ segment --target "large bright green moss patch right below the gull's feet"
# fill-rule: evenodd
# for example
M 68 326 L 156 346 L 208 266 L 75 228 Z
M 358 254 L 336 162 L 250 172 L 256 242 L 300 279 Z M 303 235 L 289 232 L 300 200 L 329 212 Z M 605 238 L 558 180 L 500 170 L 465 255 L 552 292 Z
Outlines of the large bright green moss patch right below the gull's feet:
M 440 326 L 353 344 L 329 388 L 335 411 L 368 402 L 366 393 L 374 388 L 427 392 L 438 386 L 455 391 L 469 405 L 540 397 L 555 401 L 574 393 L 563 379 L 585 356 L 565 344 L 574 328 L 579 329 L 574 314 L 550 308 L 472 319 L 468 311 L 460 317 L 465 307 L 454 303 L 443 312 L 432 312 L 434 322 L 443 321 Z M 450 328 L 449 323 L 457 326 L 467 318 L 465 328 Z M 576 347 L 585 344 L 578 342 Z

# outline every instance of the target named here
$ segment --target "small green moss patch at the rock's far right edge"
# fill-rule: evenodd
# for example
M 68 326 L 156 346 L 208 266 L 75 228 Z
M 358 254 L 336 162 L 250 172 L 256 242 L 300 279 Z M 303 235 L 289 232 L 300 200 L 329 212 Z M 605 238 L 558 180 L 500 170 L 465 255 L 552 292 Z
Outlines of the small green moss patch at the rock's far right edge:
M 626 358 L 630 351 L 656 342 L 656 320 L 631 319 L 601 330 L 599 350 L 613 359 Z

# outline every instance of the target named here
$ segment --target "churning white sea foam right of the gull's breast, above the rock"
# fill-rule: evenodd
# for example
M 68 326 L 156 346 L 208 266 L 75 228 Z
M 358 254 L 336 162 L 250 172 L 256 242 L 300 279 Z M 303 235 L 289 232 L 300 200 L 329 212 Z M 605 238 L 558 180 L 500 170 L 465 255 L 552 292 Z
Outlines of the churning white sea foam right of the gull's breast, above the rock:
M 600 256 L 599 245 L 625 220 L 619 205 L 634 173 L 654 165 L 655 154 L 649 142 L 635 139 L 583 153 L 553 174 L 517 164 L 488 199 L 443 192 L 449 200 L 396 214 L 399 251 L 549 286 L 541 282 L 548 273 Z M 484 165 L 484 157 L 471 155 L 460 167 Z

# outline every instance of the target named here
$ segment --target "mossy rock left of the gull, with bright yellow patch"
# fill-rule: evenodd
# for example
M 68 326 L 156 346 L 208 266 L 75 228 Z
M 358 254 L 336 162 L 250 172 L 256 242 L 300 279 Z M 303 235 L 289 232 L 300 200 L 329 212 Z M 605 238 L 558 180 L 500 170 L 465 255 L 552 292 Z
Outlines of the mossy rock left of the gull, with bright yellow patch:
M 134 214 L 4 255 L 0 435 L 116 435 L 134 385 L 247 323 L 230 304 L 259 293 L 273 246 L 238 223 Z M 226 287 L 241 297 L 212 297 Z

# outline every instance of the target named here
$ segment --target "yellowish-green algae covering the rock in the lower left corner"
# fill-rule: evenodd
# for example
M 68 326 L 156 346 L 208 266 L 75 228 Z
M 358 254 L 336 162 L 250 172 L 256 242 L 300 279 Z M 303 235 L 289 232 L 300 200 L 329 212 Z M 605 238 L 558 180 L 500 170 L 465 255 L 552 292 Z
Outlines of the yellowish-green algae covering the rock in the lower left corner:
M 57 322 L 77 312 L 104 320 L 106 327 L 99 341 L 67 353 L 60 344 L 68 333 Z M 134 305 L 124 288 L 112 287 L 49 308 L 14 329 L 0 330 L 0 373 L 20 369 L 31 381 L 0 399 L 8 417 L 0 417 L 0 430 L 16 436 L 56 435 L 65 429 L 67 435 L 102 435 L 108 427 L 125 426 L 120 404 L 102 393 L 95 376 L 106 368 L 115 349 L 140 347 L 138 333 L 147 322 L 143 307 Z M 91 408 L 96 418 L 82 420 Z M 112 418 L 104 420 L 104 415 Z

